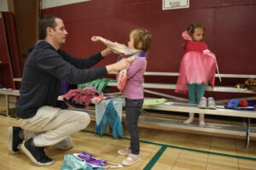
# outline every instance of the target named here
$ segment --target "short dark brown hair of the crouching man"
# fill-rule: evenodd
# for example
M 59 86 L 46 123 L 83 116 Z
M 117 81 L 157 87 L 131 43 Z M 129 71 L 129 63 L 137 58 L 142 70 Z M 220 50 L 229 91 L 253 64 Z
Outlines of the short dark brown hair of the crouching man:
M 56 14 L 47 14 L 47 15 L 44 15 L 43 17 L 41 17 L 41 19 L 39 20 L 39 24 L 38 24 L 40 40 L 44 40 L 44 38 L 46 37 L 46 28 L 47 27 L 55 28 L 55 26 L 56 26 L 55 19 L 56 18 L 61 19 L 61 17 Z

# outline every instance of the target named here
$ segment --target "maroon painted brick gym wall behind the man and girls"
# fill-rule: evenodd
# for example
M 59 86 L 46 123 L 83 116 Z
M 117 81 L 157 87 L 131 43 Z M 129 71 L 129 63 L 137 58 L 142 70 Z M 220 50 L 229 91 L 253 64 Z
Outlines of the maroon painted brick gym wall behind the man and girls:
M 206 26 L 205 42 L 217 55 L 221 73 L 255 74 L 256 1 L 190 0 L 189 3 L 190 8 L 162 10 L 161 0 L 93 0 L 46 8 L 42 14 L 61 15 L 69 34 L 63 48 L 77 57 L 104 48 L 100 42 L 90 42 L 91 36 L 126 44 L 132 29 L 147 28 L 154 38 L 147 71 L 169 72 L 178 71 L 183 57 L 182 31 L 190 22 L 199 21 Z M 116 61 L 114 54 L 109 58 L 99 65 Z

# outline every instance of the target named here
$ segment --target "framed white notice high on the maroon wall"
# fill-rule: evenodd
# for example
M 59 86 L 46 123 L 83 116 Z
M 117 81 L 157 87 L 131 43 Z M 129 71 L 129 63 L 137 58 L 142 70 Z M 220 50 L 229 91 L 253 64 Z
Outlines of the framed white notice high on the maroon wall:
M 163 0 L 163 10 L 189 8 L 189 0 Z

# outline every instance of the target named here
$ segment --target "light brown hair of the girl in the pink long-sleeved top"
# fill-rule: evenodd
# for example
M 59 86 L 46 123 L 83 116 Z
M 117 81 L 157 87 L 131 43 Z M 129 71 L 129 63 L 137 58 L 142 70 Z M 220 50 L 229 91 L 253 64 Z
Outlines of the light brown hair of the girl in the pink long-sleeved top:
M 145 29 L 135 29 L 130 33 L 133 34 L 133 44 L 137 48 L 139 42 L 142 42 L 142 50 L 147 51 L 150 48 L 152 42 L 152 35 L 148 30 Z

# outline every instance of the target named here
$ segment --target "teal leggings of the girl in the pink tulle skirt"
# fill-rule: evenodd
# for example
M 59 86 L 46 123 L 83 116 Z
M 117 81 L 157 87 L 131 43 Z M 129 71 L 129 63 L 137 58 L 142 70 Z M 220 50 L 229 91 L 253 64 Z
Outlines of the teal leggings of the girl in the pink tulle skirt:
M 187 84 L 189 91 L 189 104 L 195 104 L 195 96 L 197 101 L 199 102 L 201 97 L 205 94 L 205 83 L 201 84 Z

